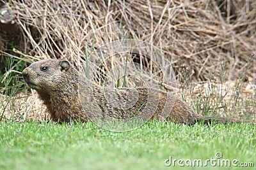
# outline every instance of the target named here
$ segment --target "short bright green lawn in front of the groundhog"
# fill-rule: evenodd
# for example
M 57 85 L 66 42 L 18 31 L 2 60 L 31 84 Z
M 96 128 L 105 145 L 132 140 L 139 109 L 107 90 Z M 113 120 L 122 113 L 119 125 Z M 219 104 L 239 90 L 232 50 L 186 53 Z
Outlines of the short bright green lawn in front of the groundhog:
M 222 159 L 253 162 L 254 167 L 248 168 L 253 169 L 255 134 L 252 124 L 187 126 L 153 121 L 134 131 L 110 132 L 92 122 L 2 122 L 0 169 L 198 169 L 166 167 L 164 160 L 216 159 L 216 152 L 223 154 Z

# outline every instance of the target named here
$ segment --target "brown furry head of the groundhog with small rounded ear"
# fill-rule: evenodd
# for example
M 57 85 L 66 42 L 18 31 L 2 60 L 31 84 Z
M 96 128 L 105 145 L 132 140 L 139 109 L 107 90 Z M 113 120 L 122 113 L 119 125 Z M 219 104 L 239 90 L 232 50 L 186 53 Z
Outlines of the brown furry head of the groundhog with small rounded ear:
M 45 59 L 33 62 L 22 71 L 23 78 L 31 89 L 38 92 L 59 90 L 72 78 L 72 67 L 67 60 Z

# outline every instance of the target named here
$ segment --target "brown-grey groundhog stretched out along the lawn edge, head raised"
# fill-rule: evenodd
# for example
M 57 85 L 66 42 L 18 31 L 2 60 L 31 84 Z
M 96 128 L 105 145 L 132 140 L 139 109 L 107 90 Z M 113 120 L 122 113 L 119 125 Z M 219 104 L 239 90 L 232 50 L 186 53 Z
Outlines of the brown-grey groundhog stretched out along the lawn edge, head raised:
M 212 121 L 240 122 L 234 118 L 196 114 L 188 104 L 162 90 L 104 88 L 79 74 L 68 60 L 40 60 L 24 69 L 22 74 L 28 86 L 38 92 L 55 122 L 129 119 L 134 115 L 145 120 L 165 118 L 188 125 L 198 120 L 206 124 Z M 125 101 L 131 102 L 125 104 Z

